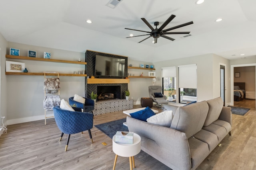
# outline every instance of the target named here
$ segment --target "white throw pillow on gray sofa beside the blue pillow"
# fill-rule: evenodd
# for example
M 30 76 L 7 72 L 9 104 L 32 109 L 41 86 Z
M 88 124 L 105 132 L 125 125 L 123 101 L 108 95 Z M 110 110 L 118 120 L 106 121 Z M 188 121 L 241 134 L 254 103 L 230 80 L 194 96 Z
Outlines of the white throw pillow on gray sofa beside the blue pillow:
M 171 110 L 163 111 L 147 119 L 148 123 L 155 125 L 170 127 L 172 123 L 173 114 Z

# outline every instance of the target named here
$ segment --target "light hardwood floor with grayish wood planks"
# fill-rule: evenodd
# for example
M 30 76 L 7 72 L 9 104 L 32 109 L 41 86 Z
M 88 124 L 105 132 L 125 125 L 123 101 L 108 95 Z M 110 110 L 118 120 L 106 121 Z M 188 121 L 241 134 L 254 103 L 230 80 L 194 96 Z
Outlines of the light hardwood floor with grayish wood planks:
M 254 102 L 254 105 L 251 104 Z M 235 106 L 238 105 L 235 102 Z M 198 170 L 255 170 L 256 169 L 256 109 L 255 100 L 239 102 L 251 108 L 246 115 L 232 115 L 232 136 L 227 135 L 200 164 Z M 139 105 L 134 108 L 140 107 Z M 168 110 L 176 107 L 167 106 Z M 94 125 L 125 118 L 122 111 L 96 115 Z M 64 152 L 66 137 L 59 142 L 60 130 L 54 119 L 9 125 L 8 133 L 0 137 L 0 169 L 11 170 L 111 170 L 115 154 L 112 139 L 92 128 L 94 143 L 88 132 L 71 135 L 68 151 Z M 106 146 L 102 143 L 107 143 Z M 167 166 L 141 151 L 135 158 L 135 170 L 170 170 Z M 118 156 L 116 170 L 129 169 L 129 158 Z

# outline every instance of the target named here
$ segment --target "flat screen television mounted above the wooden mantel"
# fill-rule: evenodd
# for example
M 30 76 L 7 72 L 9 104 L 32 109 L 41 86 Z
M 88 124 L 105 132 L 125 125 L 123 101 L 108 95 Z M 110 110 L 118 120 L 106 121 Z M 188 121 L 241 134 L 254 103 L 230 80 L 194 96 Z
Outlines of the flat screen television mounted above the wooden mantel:
M 98 78 L 124 78 L 125 59 L 96 55 L 95 76 Z

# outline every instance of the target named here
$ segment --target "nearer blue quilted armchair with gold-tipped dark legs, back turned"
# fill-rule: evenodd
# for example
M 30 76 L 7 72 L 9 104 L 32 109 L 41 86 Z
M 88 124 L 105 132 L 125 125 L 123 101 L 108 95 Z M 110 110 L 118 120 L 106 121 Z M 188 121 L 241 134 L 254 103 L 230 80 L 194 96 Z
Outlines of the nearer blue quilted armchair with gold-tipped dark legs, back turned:
M 53 108 L 53 113 L 54 113 L 56 124 L 60 129 L 60 131 L 62 132 L 60 136 L 60 141 L 64 133 L 68 134 L 65 151 L 67 151 L 68 149 L 70 134 L 75 134 L 80 132 L 83 133 L 83 131 L 88 130 L 91 143 L 93 143 L 92 133 L 90 130 L 93 127 L 92 113 L 64 110 L 64 109 L 60 109 L 60 106 L 55 106 Z

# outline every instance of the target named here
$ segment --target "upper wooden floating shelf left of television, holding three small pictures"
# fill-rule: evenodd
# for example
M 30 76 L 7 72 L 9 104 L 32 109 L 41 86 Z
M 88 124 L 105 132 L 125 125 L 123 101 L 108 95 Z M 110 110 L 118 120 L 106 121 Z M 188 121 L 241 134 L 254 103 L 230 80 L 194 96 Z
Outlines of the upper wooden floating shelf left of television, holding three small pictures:
M 55 62 L 55 63 L 70 63 L 70 64 L 83 64 L 83 65 L 87 64 L 86 62 L 79 62 L 79 61 L 43 59 L 43 58 L 25 57 L 25 56 L 16 56 L 16 55 L 6 55 L 5 57 L 7 59 L 18 59 L 18 60 L 46 61 L 46 62 Z

